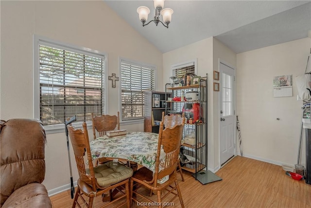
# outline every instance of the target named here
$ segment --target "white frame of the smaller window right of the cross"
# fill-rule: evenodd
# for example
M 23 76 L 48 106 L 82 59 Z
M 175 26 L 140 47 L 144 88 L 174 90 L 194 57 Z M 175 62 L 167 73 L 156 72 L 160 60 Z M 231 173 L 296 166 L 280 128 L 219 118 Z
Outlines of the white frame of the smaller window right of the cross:
M 156 80 L 156 77 L 157 77 L 157 68 L 155 65 L 153 64 L 148 64 L 148 63 L 143 63 L 143 62 L 139 62 L 139 61 L 134 61 L 134 60 L 131 60 L 131 59 L 127 59 L 127 58 L 123 58 L 123 57 L 120 57 L 119 58 L 119 74 L 120 74 L 120 82 L 119 82 L 119 100 L 120 100 L 120 106 L 119 106 L 119 112 L 120 112 L 120 123 L 123 123 L 123 124 L 137 124 L 137 123 L 143 123 L 144 122 L 144 118 L 133 118 L 133 119 L 126 119 L 126 120 L 123 120 L 122 119 L 122 88 L 121 88 L 121 80 L 122 80 L 122 75 L 121 75 L 121 63 L 122 63 L 122 60 L 125 61 L 125 62 L 130 62 L 130 63 L 133 63 L 133 64 L 136 64 L 136 65 L 140 65 L 140 66 L 144 66 L 144 67 L 149 67 L 149 68 L 152 68 L 155 72 L 155 89 L 157 89 L 157 80 Z

